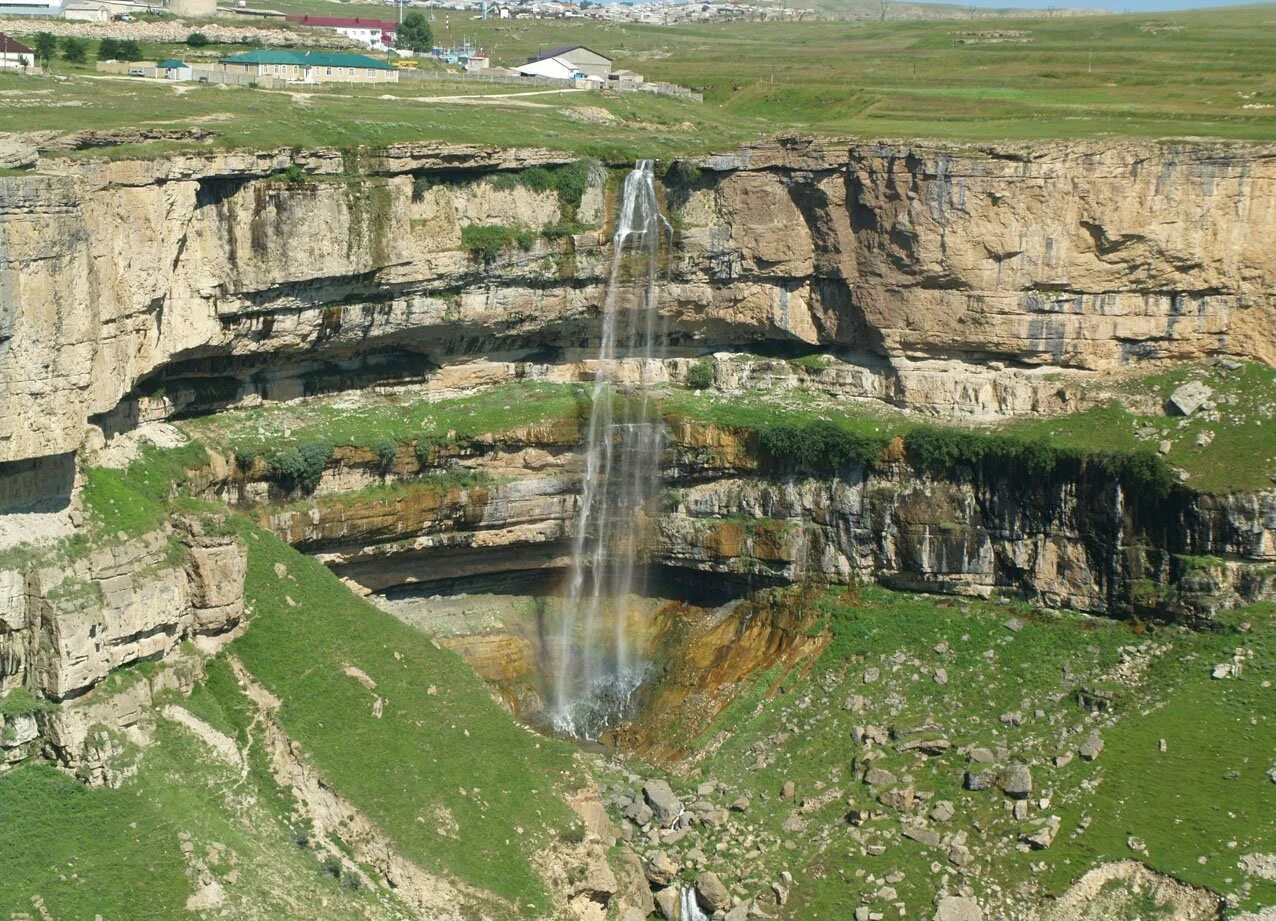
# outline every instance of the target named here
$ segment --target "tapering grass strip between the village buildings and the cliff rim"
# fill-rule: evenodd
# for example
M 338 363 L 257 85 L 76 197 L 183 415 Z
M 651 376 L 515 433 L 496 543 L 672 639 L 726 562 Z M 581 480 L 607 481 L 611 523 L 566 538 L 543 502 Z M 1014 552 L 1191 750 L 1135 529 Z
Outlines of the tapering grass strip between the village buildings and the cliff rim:
M 184 92 L 179 92 L 184 91 Z M 393 92 L 329 89 L 302 93 L 217 88 L 73 75 L 65 82 L 0 74 L 0 126 L 5 130 L 82 130 L 189 126 L 212 131 L 208 143 L 154 143 L 88 151 L 80 156 L 148 157 L 175 151 L 379 147 L 410 142 L 547 147 L 629 161 L 721 149 L 757 138 L 748 120 L 706 112 L 690 102 L 587 92 L 494 85 L 499 98 L 476 101 L 472 87 L 403 84 Z M 532 96 L 519 96 L 535 92 Z M 388 94 L 390 98 L 382 98 Z M 513 96 L 510 96 L 513 94 Z M 464 97 L 466 102 L 458 102 Z M 602 108 L 615 121 L 598 126 L 582 107 Z

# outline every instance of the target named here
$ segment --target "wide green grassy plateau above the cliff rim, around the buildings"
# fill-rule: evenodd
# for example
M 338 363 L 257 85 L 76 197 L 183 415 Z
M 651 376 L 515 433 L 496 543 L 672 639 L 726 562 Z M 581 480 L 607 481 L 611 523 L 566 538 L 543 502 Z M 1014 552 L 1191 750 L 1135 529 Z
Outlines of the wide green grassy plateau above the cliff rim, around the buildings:
M 355 8 L 342 11 L 355 13 Z M 330 11 L 330 10 L 329 10 Z M 384 8 L 370 8 L 383 14 Z M 954 43 L 971 29 L 1022 31 L 1031 43 Z M 448 140 L 542 144 L 629 159 L 730 148 L 808 133 L 954 143 L 1073 138 L 1276 139 L 1271 5 L 1207 11 L 948 22 L 630 26 L 489 20 L 440 14 L 443 42 L 470 38 L 501 64 L 583 43 L 703 105 L 597 93 L 444 102 L 459 84 L 296 93 L 94 79 L 0 78 L 0 117 L 24 129 L 202 125 L 221 147 Z M 149 48 L 168 54 L 180 47 Z M 59 65 L 61 66 L 61 65 Z M 484 87 L 489 93 L 517 87 Z M 382 96 L 393 98 L 380 98 Z M 472 93 L 471 93 L 472 94 Z M 370 97 L 370 98 L 369 98 Z M 108 103 L 108 105 L 105 105 Z M 615 117 L 591 124 L 572 108 Z M 161 152 L 148 147 L 142 152 Z M 125 151 L 124 153 L 138 153 Z

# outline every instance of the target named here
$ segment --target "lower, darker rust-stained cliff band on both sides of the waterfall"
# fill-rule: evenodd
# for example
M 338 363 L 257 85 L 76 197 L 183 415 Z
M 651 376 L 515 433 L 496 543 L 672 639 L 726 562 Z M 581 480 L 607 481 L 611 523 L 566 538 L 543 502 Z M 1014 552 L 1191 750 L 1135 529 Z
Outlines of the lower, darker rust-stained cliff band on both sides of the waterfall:
M 581 457 L 565 435 L 530 429 L 501 444 L 458 445 L 424 466 L 401 458 L 389 473 L 371 454 L 339 455 L 310 503 L 260 504 L 255 514 L 373 591 L 419 582 L 443 589 L 471 577 L 496 591 L 567 565 Z M 683 422 L 670 436 L 670 490 L 644 528 L 643 556 L 680 583 L 879 580 L 1189 621 L 1276 598 L 1273 491 L 1156 497 L 1099 471 L 934 476 L 903 458 L 873 471 L 785 473 L 759 469 L 755 446 L 731 430 Z M 491 482 L 431 482 L 440 469 Z M 226 473 L 205 489 L 263 503 L 269 489 L 253 476 Z M 383 477 L 415 485 L 341 495 Z

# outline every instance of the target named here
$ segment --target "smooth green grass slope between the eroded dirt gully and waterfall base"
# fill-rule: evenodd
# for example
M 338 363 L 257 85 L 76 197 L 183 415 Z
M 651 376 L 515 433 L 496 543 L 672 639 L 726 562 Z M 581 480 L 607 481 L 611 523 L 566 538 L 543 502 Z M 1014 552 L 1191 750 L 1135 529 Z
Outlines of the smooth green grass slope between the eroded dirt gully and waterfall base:
M 581 779 L 574 750 L 516 725 L 458 656 L 320 564 L 256 529 L 245 540 L 253 620 L 232 652 L 324 782 L 424 869 L 549 913 L 528 861 L 577 827 L 560 796 Z

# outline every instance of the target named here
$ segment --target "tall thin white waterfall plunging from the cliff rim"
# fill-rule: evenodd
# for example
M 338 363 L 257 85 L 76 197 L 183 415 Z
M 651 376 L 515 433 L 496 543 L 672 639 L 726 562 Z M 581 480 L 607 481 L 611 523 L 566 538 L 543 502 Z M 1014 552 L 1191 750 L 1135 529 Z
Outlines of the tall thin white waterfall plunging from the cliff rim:
M 625 177 L 586 436 L 584 481 L 572 568 L 558 625 L 550 721 L 597 739 L 629 714 L 646 663 L 627 635 L 628 600 L 642 591 L 637 556 L 646 510 L 660 489 L 664 425 L 648 393 L 660 366 L 661 246 L 672 236 L 656 199 L 653 163 Z M 623 360 L 637 360 L 624 380 Z

